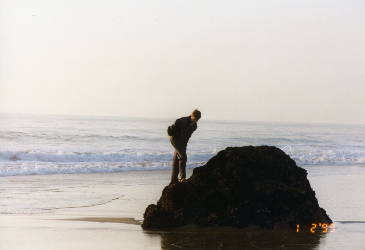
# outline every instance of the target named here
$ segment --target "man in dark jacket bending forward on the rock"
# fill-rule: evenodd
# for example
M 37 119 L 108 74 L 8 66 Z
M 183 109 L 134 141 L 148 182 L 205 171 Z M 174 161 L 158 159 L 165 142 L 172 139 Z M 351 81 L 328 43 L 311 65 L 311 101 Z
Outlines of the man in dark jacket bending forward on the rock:
M 181 117 L 169 126 L 167 133 L 175 154 L 172 159 L 171 181 L 179 181 L 177 178 L 180 172 L 180 181 L 186 181 L 185 167 L 187 162 L 186 147 L 192 133 L 198 127 L 196 122 L 200 119 L 201 113 L 195 109 L 190 116 Z

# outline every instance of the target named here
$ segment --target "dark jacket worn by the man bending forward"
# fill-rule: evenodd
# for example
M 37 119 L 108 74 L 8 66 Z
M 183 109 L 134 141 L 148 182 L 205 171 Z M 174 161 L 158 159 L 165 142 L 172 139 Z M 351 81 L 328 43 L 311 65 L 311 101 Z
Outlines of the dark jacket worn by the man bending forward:
M 172 143 L 178 142 L 187 145 L 192 133 L 197 127 L 198 125 L 196 123 L 191 122 L 190 116 L 181 117 L 169 126 L 167 133 Z

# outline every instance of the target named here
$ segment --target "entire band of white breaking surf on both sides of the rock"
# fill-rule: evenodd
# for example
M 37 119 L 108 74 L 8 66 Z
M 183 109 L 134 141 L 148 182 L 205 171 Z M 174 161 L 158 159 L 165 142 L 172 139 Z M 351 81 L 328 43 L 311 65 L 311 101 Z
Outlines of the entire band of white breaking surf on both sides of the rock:
M 188 168 L 204 165 L 216 152 L 188 154 Z M 0 176 L 165 170 L 172 152 L 0 152 Z M 301 151 L 289 153 L 297 165 L 365 163 L 361 152 Z

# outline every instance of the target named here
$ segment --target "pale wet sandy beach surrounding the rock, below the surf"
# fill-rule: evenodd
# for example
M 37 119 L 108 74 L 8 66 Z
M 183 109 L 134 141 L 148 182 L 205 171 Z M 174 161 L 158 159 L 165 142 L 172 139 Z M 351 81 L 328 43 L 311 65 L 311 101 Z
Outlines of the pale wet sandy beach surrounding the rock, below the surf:
M 7 196 L 14 204 L 44 202 L 48 208 L 0 214 L 0 249 L 365 249 L 365 165 L 302 167 L 335 230 L 193 225 L 142 230 L 145 208 L 160 198 L 169 170 L 12 176 L 1 178 L 2 201 Z M 191 174 L 188 169 L 187 176 Z M 28 192 L 15 193 L 17 186 L 27 186 Z M 100 193 L 107 201 L 95 204 L 91 197 Z M 62 199 L 65 207 L 52 208 L 53 201 L 61 204 Z M 68 207 L 67 200 L 74 199 L 86 200 L 80 207 Z

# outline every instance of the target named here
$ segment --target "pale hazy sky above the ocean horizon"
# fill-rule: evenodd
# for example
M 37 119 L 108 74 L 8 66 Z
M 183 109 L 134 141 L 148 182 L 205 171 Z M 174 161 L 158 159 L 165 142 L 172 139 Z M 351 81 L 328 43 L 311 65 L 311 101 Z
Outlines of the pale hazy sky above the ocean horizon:
M 365 1 L 0 0 L 0 112 L 365 124 Z

